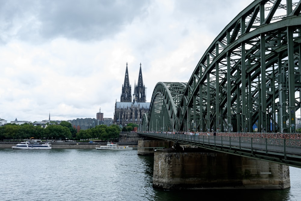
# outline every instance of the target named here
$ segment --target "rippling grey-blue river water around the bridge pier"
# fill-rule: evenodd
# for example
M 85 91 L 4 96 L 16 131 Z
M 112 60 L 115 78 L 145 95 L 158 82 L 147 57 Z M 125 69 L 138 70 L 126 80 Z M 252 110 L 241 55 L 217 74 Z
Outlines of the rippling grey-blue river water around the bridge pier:
M 156 190 L 153 166 L 137 150 L 0 149 L 0 200 L 301 200 L 299 168 L 286 190 Z

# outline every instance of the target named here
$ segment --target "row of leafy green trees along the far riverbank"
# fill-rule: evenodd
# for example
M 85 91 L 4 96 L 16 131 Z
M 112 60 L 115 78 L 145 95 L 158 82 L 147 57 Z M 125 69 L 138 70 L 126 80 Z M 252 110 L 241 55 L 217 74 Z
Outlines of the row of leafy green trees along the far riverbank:
M 66 138 L 71 140 L 89 140 L 89 139 L 101 139 L 110 140 L 119 137 L 121 129 L 117 125 L 98 125 L 95 128 L 87 130 L 77 130 L 72 127 L 72 124 L 67 121 L 62 121 L 60 124 L 47 124 L 47 127 L 34 126 L 32 124 L 5 124 L 0 127 L 0 140 L 21 140 L 29 139 L 31 137 L 35 139 L 62 139 Z

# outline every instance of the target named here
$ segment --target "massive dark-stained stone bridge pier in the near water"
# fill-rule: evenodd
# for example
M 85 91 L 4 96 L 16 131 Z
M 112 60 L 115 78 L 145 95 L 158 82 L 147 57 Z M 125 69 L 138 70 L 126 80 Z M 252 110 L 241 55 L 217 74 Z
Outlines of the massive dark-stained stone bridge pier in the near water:
M 218 152 L 156 150 L 153 187 L 159 189 L 286 189 L 286 165 Z

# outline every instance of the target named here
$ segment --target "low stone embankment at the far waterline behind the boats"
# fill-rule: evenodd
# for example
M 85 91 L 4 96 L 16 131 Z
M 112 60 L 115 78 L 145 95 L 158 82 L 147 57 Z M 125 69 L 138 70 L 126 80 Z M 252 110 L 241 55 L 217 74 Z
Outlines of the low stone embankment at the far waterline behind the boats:
M 11 148 L 17 142 L 0 142 L 0 148 Z M 82 142 L 51 142 L 52 149 L 95 149 L 96 146 L 106 145 L 107 143 L 82 143 Z M 137 146 L 138 143 L 118 143 L 119 145 Z

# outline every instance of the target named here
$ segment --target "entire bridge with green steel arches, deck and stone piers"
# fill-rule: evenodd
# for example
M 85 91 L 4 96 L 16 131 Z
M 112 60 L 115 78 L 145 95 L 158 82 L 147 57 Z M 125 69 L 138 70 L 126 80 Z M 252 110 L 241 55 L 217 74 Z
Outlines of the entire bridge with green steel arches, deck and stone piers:
M 139 134 L 176 149 L 155 153 L 154 186 L 290 187 L 300 140 L 165 132 L 296 133 L 300 12 L 301 0 L 255 0 L 216 36 L 187 82 L 157 83 Z M 146 141 L 141 147 L 158 146 Z M 202 149 L 180 152 L 179 143 Z

